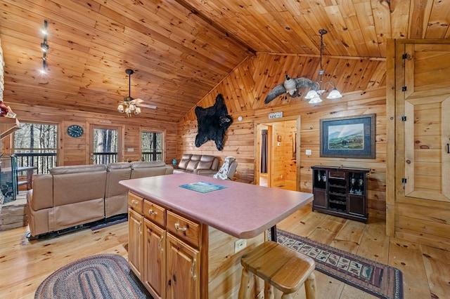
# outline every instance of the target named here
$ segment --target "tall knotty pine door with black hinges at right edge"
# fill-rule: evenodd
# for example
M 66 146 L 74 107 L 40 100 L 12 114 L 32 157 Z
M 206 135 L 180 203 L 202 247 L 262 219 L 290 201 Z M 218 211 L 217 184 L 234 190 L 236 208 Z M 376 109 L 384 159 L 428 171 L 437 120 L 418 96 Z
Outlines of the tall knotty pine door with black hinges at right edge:
M 388 225 L 401 239 L 450 248 L 450 43 L 396 41 L 395 51 L 395 209 Z

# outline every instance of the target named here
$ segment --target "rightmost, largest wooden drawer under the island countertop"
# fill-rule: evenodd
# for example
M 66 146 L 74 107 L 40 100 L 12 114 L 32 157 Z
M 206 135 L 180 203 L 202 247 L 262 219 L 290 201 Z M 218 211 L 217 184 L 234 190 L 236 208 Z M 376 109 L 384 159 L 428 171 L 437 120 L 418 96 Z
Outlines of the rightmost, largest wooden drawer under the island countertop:
M 167 211 L 167 230 L 197 248 L 200 246 L 200 228 L 200 223 Z

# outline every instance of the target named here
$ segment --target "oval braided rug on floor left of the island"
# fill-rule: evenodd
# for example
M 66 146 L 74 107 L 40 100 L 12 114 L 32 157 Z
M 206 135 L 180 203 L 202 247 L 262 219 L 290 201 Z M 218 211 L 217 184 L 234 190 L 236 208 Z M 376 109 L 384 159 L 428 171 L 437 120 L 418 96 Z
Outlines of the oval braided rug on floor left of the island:
M 53 272 L 37 288 L 35 299 L 152 298 L 117 254 L 82 258 Z

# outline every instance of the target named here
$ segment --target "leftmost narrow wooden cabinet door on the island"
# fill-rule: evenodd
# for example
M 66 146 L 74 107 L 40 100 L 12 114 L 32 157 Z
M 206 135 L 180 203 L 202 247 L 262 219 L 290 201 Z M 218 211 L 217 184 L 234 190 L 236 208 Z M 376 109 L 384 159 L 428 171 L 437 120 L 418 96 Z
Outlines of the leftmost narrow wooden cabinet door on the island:
M 128 209 L 128 262 L 131 270 L 141 279 L 143 216 Z

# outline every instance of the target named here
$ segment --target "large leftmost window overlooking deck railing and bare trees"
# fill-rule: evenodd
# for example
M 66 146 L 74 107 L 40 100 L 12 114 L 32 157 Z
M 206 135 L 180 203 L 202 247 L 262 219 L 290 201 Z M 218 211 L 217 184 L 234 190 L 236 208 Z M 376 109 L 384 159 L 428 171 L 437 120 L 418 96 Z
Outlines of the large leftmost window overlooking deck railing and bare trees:
M 20 124 L 14 132 L 14 154 L 18 167 L 35 166 L 37 174 L 56 166 L 58 140 L 56 124 Z

